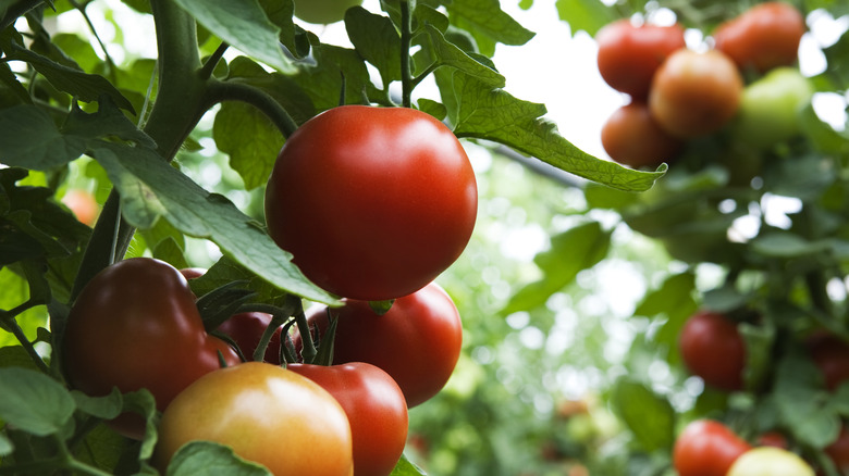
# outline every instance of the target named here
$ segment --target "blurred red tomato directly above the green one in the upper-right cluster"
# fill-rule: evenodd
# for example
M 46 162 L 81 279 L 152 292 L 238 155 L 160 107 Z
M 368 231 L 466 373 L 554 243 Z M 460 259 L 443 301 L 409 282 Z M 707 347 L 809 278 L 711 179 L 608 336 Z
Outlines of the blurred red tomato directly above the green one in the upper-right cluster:
M 804 30 L 804 18 L 793 5 L 766 2 L 723 23 L 713 37 L 716 49 L 740 68 L 764 73 L 796 62 Z

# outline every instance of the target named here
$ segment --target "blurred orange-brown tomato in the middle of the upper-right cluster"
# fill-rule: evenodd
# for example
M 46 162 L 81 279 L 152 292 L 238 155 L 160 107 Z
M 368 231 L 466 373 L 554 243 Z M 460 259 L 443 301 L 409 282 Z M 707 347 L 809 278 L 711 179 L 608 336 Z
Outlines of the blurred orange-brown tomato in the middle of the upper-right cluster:
M 664 130 L 689 139 L 728 123 L 737 113 L 742 89 L 740 72 L 722 52 L 677 50 L 654 75 L 649 109 Z

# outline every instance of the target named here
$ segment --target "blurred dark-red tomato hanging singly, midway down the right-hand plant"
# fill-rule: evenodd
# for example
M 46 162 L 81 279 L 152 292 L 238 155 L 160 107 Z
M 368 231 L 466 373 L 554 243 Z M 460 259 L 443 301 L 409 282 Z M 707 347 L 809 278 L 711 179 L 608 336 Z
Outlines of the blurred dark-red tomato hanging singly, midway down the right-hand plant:
M 687 368 L 705 384 L 742 389 L 746 343 L 736 323 L 718 313 L 698 312 L 685 323 L 678 343 Z

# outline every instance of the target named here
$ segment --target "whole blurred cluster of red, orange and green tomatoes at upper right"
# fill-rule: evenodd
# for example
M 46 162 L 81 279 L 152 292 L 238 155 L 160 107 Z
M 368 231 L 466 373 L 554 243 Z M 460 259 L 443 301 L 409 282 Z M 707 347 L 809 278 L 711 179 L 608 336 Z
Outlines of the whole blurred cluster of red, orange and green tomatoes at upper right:
M 606 25 L 596 35 L 599 71 L 630 101 L 603 125 L 602 146 L 637 168 L 675 161 L 693 139 L 729 128 L 760 147 L 792 137 L 813 92 L 793 66 L 804 30 L 801 13 L 783 2 L 751 8 L 698 48 L 679 25 Z

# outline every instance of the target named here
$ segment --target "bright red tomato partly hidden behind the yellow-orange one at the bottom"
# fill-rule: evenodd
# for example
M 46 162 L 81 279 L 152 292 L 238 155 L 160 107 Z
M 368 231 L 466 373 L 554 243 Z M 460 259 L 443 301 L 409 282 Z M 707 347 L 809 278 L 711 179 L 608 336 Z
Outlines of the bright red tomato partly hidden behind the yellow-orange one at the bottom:
M 329 391 L 345 410 L 354 444 L 355 476 L 389 476 L 407 442 L 404 393 L 379 367 L 364 362 L 323 366 L 288 364 Z

